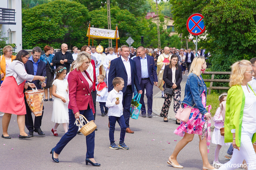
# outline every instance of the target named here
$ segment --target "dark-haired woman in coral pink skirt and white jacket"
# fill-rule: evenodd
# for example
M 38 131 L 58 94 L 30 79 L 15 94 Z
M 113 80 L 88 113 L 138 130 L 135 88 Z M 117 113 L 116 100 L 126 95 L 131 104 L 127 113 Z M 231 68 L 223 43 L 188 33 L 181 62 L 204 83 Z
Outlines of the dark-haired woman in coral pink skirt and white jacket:
M 17 115 L 17 122 L 20 129 L 19 139 L 30 138 L 25 132 L 25 114 L 26 106 L 24 103 L 24 88 L 35 88 L 33 83 L 26 83 L 27 81 L 40 80 L 44 81 L 43 76 L 29 75 L 26 72 L 24 64 L 28 61 L 28 51 L 21 50 L 18 52 L 16 59 L 8 66 L 4 82 L 0 88 L 0 111 L 4 112 L 2 118 L 3 134 L 5 139 L 11 139 L 7 133 L 12 114 Z M 11 101 L 11 102 L 10 102 Z

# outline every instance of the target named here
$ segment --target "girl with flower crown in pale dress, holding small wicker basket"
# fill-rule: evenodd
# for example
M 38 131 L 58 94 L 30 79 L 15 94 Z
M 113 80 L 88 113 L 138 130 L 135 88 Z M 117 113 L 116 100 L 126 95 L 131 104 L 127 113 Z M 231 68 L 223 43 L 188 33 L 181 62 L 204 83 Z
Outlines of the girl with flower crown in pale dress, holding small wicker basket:
M 219 101 L 220 103 L 224 102 L 227 100 L 227 93 L 222 93 L 219 96 Z M 222 103 L 225 104 L 225 103 Z M 224 120 L 222 117 L 222 113 L 221 113 L 221 109 L 220 107 L 218 107 L 214 117 L 213 117 L 213 122 L 215 122 L 214 124 L 214 131 L 212 134 L 212 143 L 214 143 L 215 145 L 217 145 L 216 149 L 215 149 L 215 159 L 213 161 L 213 165 L 214 166 L 222 166 L 222 163 L 219 162 L 219 153 L 220 153 L 220 148 L 223 145 L 230 145 L 231 143 L 225 143 L 224 142 L 224 136 L 220 135 L 220 128 L 222 128 L 224 126 Z

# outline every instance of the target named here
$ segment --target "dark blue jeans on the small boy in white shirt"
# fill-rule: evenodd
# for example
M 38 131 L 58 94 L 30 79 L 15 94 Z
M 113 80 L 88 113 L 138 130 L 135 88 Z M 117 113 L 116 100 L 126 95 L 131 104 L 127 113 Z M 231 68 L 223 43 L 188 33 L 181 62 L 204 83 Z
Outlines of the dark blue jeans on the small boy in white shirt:
M 125 119 L 124 116 L 116 117 L 116 116 L 109 116 L 109 140 L 110 140 L 110 145 L 112 143 L 115 143 L 115 138 L 114 138 L 114 132 L 115 132 L 115 125 L 116 122 L 118 122 L 119 126 L 121 127 L 121 132 L 120 132 L 120 140 L 119 143 L 123 143 L 125 140 L 125 131 L 126 131 L 126 125 L 125 125 Z

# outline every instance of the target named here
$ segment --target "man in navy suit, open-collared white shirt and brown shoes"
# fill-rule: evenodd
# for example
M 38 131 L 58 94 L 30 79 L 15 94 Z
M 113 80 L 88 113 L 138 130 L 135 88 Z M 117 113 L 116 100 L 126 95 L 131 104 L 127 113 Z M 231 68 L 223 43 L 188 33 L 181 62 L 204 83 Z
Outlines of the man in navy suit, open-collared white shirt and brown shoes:
M 122 77 L 124 80 L 124 88 L 123 92 L 123 115 L 125 118 L 126 124 L 126 132 L 127 133 L 134 133 L 131 131 L 129 126 L 129 119 L 130 119 L 130 106 L 132 95 L 134 92 L 134 85 L 138 92 L 142 94 L 142 90 L 139 85 L 139 80 L 137 76 L 136 70 L 136 62 L 132 59 L 129 59 L 129 47 L 128 46 L 121 46 L 121 57 L 118 57 L 111 61 L 110 68 L 109 68 L 109 87 L 108 91 L 110 92 L 114 87 L 112 81 L 115 77 Z

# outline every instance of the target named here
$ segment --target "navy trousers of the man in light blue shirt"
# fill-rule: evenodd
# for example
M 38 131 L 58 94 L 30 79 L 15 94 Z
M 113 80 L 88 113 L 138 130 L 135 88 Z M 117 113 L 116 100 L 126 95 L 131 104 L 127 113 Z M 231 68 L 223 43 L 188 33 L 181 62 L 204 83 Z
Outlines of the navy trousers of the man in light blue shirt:
M 140 88 L 142 89 L 142 94 L 140 98 L 141 106 L 141 114 L 146 114 L 146 107 L 144 103 L 144 92 L 146 89 L 147 96 L 147 114 L 152 114 L 152 104 L 153 104 L 153 85 L 151 84 L 150 78 L 141 79 Z

